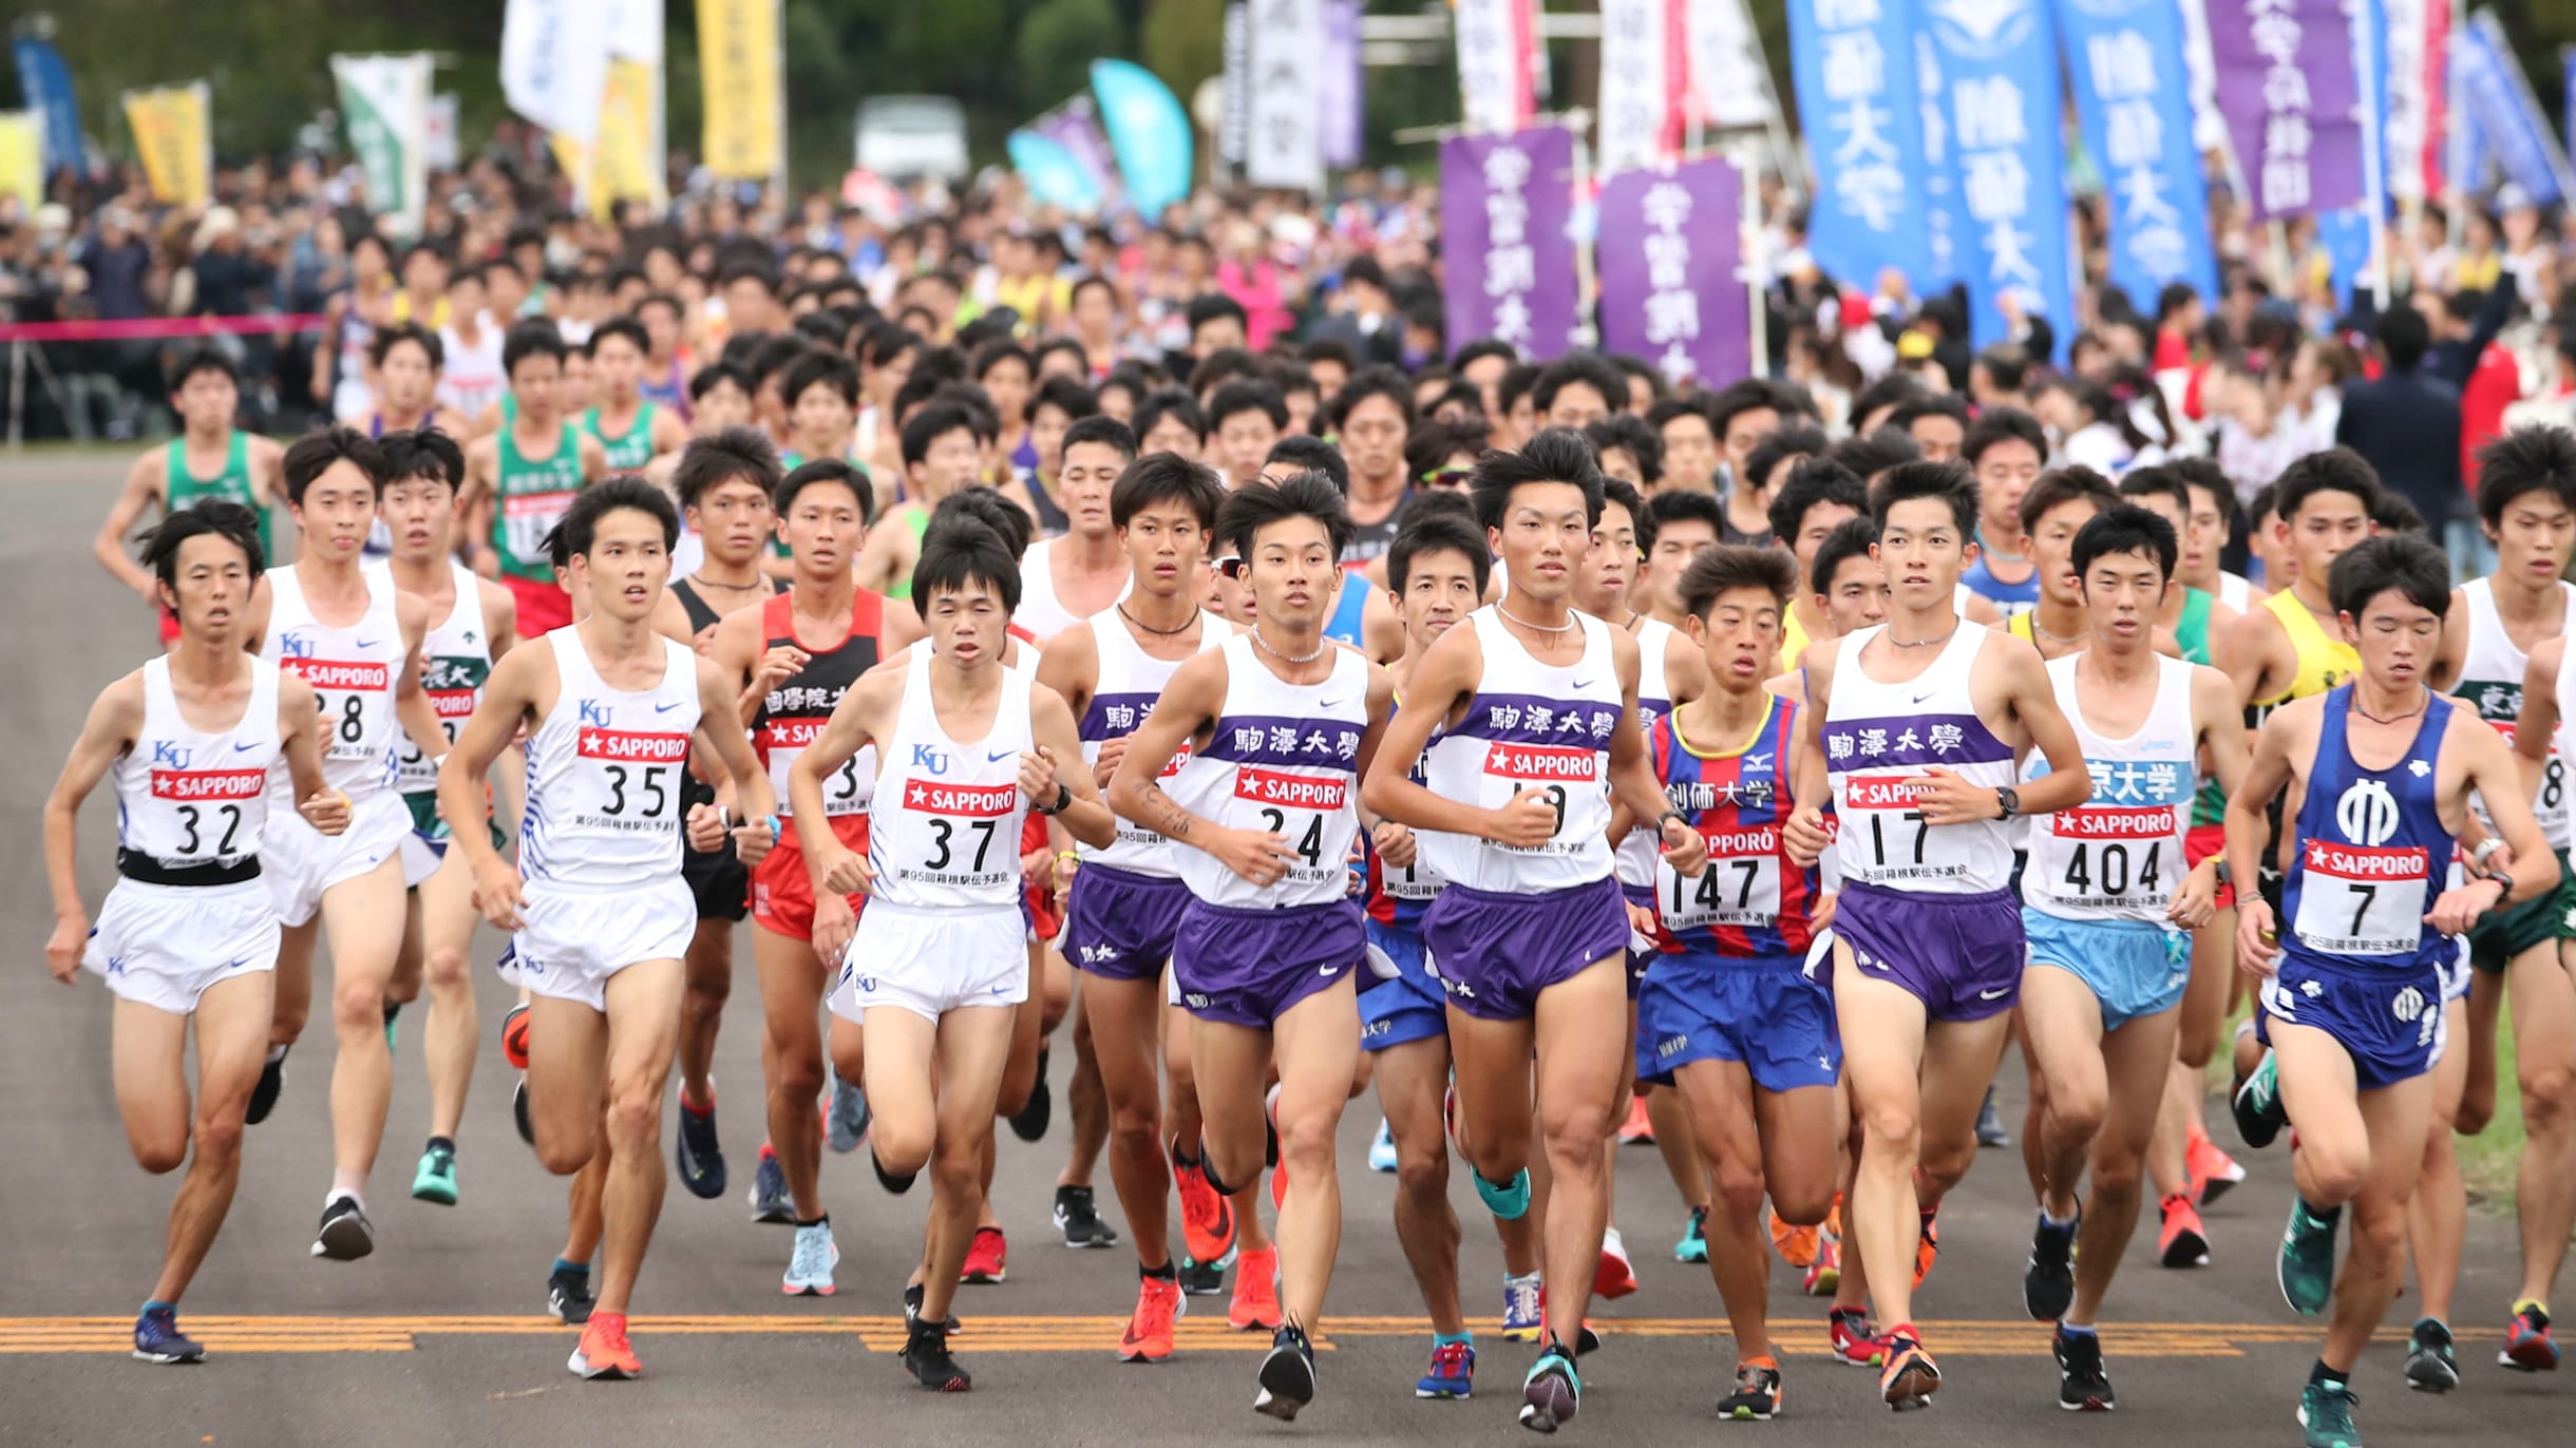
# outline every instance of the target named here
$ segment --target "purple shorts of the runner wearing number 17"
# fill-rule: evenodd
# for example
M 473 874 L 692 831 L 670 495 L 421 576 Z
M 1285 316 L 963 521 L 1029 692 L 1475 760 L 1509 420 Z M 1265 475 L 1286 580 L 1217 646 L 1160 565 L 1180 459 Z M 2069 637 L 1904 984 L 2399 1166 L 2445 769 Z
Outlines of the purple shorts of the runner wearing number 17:
M 2022 995 L 2030 943 L 2012 891 L 1929 894 L 1847 881 L 1834 938 L 1852 964 L 1924 1002 L 1929 1020 L 1986 1020 Z

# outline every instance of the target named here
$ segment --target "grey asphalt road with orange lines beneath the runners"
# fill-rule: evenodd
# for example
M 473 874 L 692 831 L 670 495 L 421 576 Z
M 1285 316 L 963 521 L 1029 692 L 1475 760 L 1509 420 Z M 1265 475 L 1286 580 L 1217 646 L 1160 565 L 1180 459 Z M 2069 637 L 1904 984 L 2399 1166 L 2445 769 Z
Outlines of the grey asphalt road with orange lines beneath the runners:
M 108 1082 L 108 995 L 44 974 L 49 928 L 39 806 L 82 709 L 152 644 L 139 603 L 88 557 L 88 538 L 124 459 L 0 459 L 0 809 L 18 848 L 0 853 L 0 1443 L 706 1443 L 963 1440 L 1206 1443 L 1226 1438 L 1334 1438 L 1466 1443 L 1517 1435 L 1512 1412 L 1530 1348 L 1486 1332 L 1476 1402 L 1417 1402 L 1412 1378 L 1427 1327 L 1388 1224 L 1394 1177 L 1363 1170 L 1376 1110 L 1345 1118 L 1345 1234 L 1334 1275 L 1321 1399 L 1293 1427 L 1255 1417 L 1257 1335 L 1224 1329 L 1224 1299 L 1198 1299 L 1182 1353 L 1162 1368 L 1113 1355 L 1133 1304 L 1131 1255 L 1066 1252 L 1048 1229 L 1064 1121 L 1038 1144 L 1005 1136 L 997 1208 L 1012 1234 L 1010 1281 L 963 1288 L 961 1360 L 976 1391 L 920 1394 L 904 1378 L 899 1288 L 920 1244 L 920 1193 L 889 1198 L 863 1159 L 829 1157 L 827 1203 L 840 1229 L 840 1296 L 781 1299 L 788 1234 L 755 1226 L 739 1198 L 757 1147 L 757 987 L 750 943 L 726 1023 L 719 1090 L 737 1193 L 701 1203 L 677 1188 L 662 1216 L 636 1301 L 647 1378 L 580 1384 L 564 1373 L 572 1332 L 544 1317 L 544 1281 L 562 1237 L 562 1185 L 510 1129 L 510 1074 L 487 1051 L 461 1134 L 464 1203 L 404 1196 L 428 1118 L 417 1015 L 404 1020 L 386 1152 L 371 1190 L 374 1257 L 340 1265 L 307 1255 L 330 1180 L 325 1082 L 330 1033 L 296 1049 L 276 1116 L 252 1129 L 242 1193 L 183 1322 L 209 1342 L 198 1368 L 126 1358 L 126 1327 L 160 1257 L 175 1177 L 144 1177 L 124 1147 Z M 111 881 L 113 814 L 93 801 L 85 884 Z M 489 961 L 500 940 L 477 940 Z M 487 1033 L 507 992 L 477 987 Z M 1069 1051 L 1056 1054 L 1061 1103 Z M 2007 1064 L 2017 1105 L 2020 1067 Z M 1703 1268 L 1672 1260 L 1682 1211 L 1651 1149 L 1620 1152 L 1620 1208 L 1643 1288 L 1597 1311 L 1610 1335 L 1587 1360 L 1589 1394 L 1569 1427 L 1577 1440 L 1674 1443 L 1708 1430 L 1734 1363 Z M 1932 1412 L 1891 1420 L 1865 1373 L 1824 1358 L 1824 1304 L 1793 1275 L 1772 1275 L 1775 1324 L 1788 1353 L 1788 1415 L 1747 1438 L 1850 1443 L 1896 1433 L 1909 1443 L 1976 1448 L 2099 1440 L 2298 1443 L 2293 1409 L 2318 1332 L 2272 1286 L 2272 1244 L 2287 1206 L 2280 1152 L 2251 1159 L 2251 1183 L 2210 1211 L 2215 1265 L 2164 1270 L 2154 1242 L 2133 1244 L 2105 1311 L 2105 1348 L 2120 1412 L 2069 1420 L 2056 1407 L 2045 1327 L 2020 1311 L 2030 1203 L 2020 1159 L 1986 1152 L 1942 1214 L 1945 1255 L 1919 1311 L 1947 1384 Z M 1468 1306 L 1492 1329 L 1499 1255 L 1458 1183 L 1468 1224 Z M 1108 1175 L 1103 1208 L 1113 1211 Z M 1115 1216 L 1113 1216 L 1115 1221 Z M 2151 1237 L 2151 1229 L 2148 1229 Z M 2360 1422 L 2372 1443 L 2571 1443 L 2576 1402 L 2566 1373 L 2517 1376 L 2494 1366 L 2514 1288 L 2512 1224 L 2476 1214 L 2460 1283 L 2460 1355 L 2468 1386 L 2445 1399 L 2401 1386 L 2409 1301 L 2391 1311 L 2398 1345 L 2378 1345 L 2357 1373 Z

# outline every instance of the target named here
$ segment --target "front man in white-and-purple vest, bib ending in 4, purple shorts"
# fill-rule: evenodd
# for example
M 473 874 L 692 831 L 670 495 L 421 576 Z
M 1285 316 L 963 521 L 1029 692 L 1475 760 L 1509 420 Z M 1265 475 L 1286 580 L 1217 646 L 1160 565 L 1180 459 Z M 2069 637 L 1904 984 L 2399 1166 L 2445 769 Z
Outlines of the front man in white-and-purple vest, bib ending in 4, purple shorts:
M 1190 1007 L 1198 1159 L 1224 1196 L 1260 1177 L 1278 1064 L 1283 1322 L 1252 1407 L 1285 1422 L 1314 1402 L 1311 1335 L 1342 1239 L 1332 1134 L 1360 1064 L 1355 974 L 1368 951 L 1345 861 L 1360 835 L 1352 786 L 1386 729 L 1391 685 L 1324 639 L 1355 533 L 1329 479 L 1239 490 L 1216 528 L 1242 559 L 1257 624 L 1172 672 L 1118 760 L 1110 801 L 1188 845 L 1172 976 Z

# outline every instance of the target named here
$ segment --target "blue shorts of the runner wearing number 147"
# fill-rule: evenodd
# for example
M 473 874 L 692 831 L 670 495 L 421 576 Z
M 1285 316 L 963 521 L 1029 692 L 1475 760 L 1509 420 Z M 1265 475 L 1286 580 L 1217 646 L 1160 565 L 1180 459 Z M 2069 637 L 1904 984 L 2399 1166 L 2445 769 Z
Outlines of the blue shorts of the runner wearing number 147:
M 1672 1085 L 1690 1062 L 1744 1062 L 1767 1092 L 1834 1085 L 1834 995 L 1795 958 L 1659 956 L 1636 997 L 1636 1080 Z

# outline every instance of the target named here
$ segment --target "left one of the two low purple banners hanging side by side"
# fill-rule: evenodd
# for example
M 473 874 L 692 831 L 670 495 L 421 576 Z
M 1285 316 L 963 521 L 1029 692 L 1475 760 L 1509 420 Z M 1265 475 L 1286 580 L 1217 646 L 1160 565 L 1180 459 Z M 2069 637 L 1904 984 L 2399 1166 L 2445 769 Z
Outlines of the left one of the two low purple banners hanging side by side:
M 1525 358 L 1574 345 L 1574 131 L 1440 142 L 1440 252 L 1450 343 L 1502 338 Z

